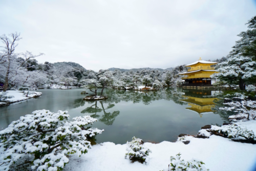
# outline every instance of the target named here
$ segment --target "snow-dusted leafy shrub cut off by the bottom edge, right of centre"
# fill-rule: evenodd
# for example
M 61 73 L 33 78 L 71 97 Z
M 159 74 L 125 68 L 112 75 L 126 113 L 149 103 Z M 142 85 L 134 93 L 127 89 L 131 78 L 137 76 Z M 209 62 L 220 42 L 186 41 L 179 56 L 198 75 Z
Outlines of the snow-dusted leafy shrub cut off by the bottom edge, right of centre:
M 180 159 L 180 153 L 175 157 L 170 156 L 170 164 L 168 165 L 168 171 L 177 170 L 177 171 L 206 171 L 204 163 L 200 160 L 192 159 L 189 161 L 184 161 Z

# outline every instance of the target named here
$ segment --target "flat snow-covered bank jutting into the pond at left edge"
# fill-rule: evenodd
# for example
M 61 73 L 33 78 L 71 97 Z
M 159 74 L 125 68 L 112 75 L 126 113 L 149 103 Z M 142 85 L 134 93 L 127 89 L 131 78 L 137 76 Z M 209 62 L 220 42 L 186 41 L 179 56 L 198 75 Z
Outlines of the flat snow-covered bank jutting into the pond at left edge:
M 2 94 L 4 92 L 1 92 Z M 11 91 L 11 90 L 8 90 L 6 91 L 7 94 L 5 94 L 5 96 L 13 96 L 12 98 L 7 98 L 3 101 L 0 101 L 1 103 L 14 103 L 14 102 L 18 102 L 18 101 L 22 101 L 22 100 L 27 100 L 29 98 L 32 98 L 34 96 L 40 96 L 42 93 L 41 92 L 33 92 L 32 94 L 28 94 L 28 97 L 26 97 L 26 95 L 24 95 L 23 92 L 20 92 L 20 91 Z

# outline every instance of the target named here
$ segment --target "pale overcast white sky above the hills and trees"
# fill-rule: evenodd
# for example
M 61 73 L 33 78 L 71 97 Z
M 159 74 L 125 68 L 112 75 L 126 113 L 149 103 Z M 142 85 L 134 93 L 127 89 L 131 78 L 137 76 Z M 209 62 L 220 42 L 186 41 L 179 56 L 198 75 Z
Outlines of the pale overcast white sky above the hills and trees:
M 256 0 L 1 0 L 0 35 L 40 63 L 166 69 L 226 56 L 255 15 Z

